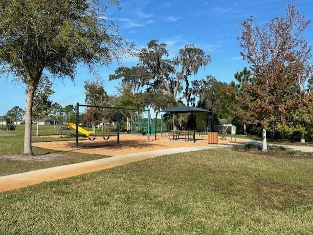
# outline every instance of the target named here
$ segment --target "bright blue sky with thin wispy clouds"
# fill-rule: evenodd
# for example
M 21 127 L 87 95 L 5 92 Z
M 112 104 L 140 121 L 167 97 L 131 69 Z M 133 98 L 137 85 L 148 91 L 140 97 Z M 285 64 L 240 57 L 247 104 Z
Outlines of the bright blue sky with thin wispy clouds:
M 286 15 L 286 5 L 291 0 L 120 0 L 121 10 L 111 7 L 108 18 L 115 19 L 120 26 L 120 34 L 137 47 L 145 46 L 150 40 L 159 39 L 167 43 L 171 56 L 177 55 L 185 44 L 193 43 L 211 56 L 212 63 L 201 69 L 198 78 L 213 75 L 218 80 L 230 82 L 237 71 L 241 71 L 246 62 L 240 57 L 238 24 L 254 17 L 255 23 L 262 25 L 270 19 Z M 312 0 L 297 0 L 297 8 L 306 19 L 313 19 Z M 303 37 L 311 45 L 313 25 Z M 134 58 L 124 58 L 121 63 L 132 66 Z M 119 65 L 97 67 L 105 81 L 109 94 L 116 92 L 118 81 L 109 81 L 109 75 Z M 69 80 L 54 81 L 52 96 L 54 102 L 67 104 L 84 103 L 83 82 L 92 79 L 84 66 L 77 67 L 75 82 Z M 24 88 L 14 85 L 7 76 L 0 77 L 0 115 L 11 107 L 24 107 Z

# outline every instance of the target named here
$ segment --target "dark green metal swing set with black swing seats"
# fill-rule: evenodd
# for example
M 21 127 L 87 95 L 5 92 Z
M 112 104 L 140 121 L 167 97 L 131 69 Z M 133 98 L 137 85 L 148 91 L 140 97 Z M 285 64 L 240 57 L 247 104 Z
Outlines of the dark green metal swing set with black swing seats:
M 110 109 L 116 109 L 117 110 L 117 144 L 119 145 L 120 143 L 120 128 L 121 128 L 121 123 L 120 123 L 120 117 L 121 113 L 120 110 L 134 110 L 134 111 L 143 111 L 143 112 L 148 112 L 148 133 L 147 133 L 147 141 L 150 141 L 150 109 L 141 109 L 141 108 L 129 108 L 129 107 L 113 107 L 113 106 L 93 106 L 93 105 L 80 105 L 79 103 L 76 103 L 76 143 L 75 147 L 78 148 L 78 128 L 79 128 L 79 107 L 94 107 L 94 108 L 110 108 Z M 105 137 L 103 137 L 105 139 Z M 110 136 L 105 139 L 108 140 Z M 94 137 L 95 139 L 95 137 Z M 94 140 L 93 139 L 93 140 Z

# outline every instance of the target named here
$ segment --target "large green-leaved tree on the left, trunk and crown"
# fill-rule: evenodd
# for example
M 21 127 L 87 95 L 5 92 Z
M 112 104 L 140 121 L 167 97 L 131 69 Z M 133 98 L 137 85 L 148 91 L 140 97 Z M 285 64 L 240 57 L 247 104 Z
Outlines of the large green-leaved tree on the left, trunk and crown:
M 100 0 L 0 0 L 0 65 L 26 86 L 24 155 L 33 154 L 32 106 L 43 73 L 74 80 L 78 63 L 92 69 L 120 57 L 124 40 L 106 18 L 108 4 Z

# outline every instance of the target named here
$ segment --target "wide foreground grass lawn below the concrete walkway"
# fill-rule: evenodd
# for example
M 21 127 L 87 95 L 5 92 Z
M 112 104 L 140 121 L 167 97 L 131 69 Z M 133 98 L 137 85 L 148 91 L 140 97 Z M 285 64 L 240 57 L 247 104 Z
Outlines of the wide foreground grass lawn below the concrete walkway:
M 313 159 L 203 150 L 0 193 L 0 234 L 308 235 Z

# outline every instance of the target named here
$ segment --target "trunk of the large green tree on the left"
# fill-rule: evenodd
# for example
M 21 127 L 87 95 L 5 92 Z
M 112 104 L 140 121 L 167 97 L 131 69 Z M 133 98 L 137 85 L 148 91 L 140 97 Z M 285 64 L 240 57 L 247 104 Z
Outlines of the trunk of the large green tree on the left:
M 26 108 L 25 108 L 25 132 L 24 132 L 24 155 L 34 155 L 31 148 L 31 115 L 33 108 L 35 88 L 28 87 L 26 92 Z

